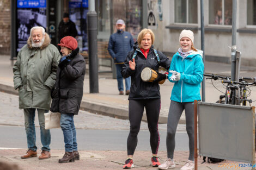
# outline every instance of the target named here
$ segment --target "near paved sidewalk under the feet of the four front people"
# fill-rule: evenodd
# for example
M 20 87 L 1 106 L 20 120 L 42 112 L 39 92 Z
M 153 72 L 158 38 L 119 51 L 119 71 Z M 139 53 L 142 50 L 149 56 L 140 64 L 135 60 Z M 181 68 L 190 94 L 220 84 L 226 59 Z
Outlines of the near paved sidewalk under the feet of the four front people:
M 126 160 L 125 151 L 98 151 L 98 150 L 81 150 L 80 160 L 74 163 L 58 163 L 64 155 L 64 150 L 51 150 L 51 158 L 46 160 L 39 160 L 38 157 L 21 159 L 20 156 L 26 153 L 26 149 L 1 149 L 0 148 L 0 162 L 14 163 L 23 170 L 99 170 L 99 169 L 123 169 L 124 161 Z M 189 152 L 174 152 L 174 159 L 176 167 L 173 170 L 180 169 L 188 158 Z M 38 150 L 38 156 L 40 150 Z M 135 168 L 133 169 L 159 169 L 150 166 L 151 153 L 147 151 L 135 152 L 133 162 Z M 160 163 L 166 159 L 166 152 L 159 152 L 158 156 Z M 240 162 L 224 161 L 221 163 L 201 163 L 203 158 L 198 156 L 198 170 L 249 170 L 249 167 L 239 167 Z M 248 165 L 248 164 L 247 164 Z M 0 167 L 1 169 L 1 167 Z M 19 169 L 20 170 L 20 169 Z

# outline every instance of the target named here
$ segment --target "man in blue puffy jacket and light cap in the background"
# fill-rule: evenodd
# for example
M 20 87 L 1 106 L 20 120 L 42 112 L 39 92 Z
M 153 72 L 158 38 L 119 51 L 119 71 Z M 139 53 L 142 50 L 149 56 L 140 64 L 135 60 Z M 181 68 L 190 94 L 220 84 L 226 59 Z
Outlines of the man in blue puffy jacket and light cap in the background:
M 132 50 L 133 37 L 129 32 L 125 32 L 125 22 L 117 20 L 115 24 L 117 32 L 109 37 L 108 52 L 114 59 L 115 68 L 117 68 L 117 83 L 119 95 L 124 95 L 124 84 L 121 70 L 127 54 Z M 129 95 L 131 87 L 131 77 L 125 78 L 125 95 Z

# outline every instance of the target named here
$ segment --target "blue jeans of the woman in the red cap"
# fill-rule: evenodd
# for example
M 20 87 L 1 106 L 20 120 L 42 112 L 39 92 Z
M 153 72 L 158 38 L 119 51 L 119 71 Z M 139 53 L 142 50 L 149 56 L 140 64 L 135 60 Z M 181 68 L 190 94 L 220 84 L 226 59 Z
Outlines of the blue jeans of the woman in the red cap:
M 62 114 L 60 117 L 60 127 L 64 135 L 65 152 L 77 151 L 74 114 Z

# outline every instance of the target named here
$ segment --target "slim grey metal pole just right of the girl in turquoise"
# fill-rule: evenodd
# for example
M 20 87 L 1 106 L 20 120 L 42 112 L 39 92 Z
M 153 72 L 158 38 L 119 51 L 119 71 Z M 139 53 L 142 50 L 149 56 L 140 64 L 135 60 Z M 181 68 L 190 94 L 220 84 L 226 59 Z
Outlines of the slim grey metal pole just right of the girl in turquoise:
M 204 1 L 201 0 L 200 2 L 201 8 L 201 49 L 203 51 L 203 62 L 204 58 Z M 205 78 L 202 81 L 202 101 L 205 102 Z

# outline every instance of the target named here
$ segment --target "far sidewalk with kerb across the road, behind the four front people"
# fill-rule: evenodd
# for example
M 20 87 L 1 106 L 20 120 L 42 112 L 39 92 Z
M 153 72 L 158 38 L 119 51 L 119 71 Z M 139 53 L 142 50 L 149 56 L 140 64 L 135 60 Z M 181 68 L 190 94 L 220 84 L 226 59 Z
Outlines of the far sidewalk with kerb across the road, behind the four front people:
M 17 95 L 18 92 L 14 90 L 13 85 L 13 64 L 11 63 L 10 56 L 0 55 L 0 58 L 0 91 Z M 107 69 L 109 70 L 109 68 Z M 99 93 L 89 93 L 89 70 L 87 65 L 81 109 L 97 114 L 127 119 L 129 104 L 129 100 L 127 100 L 128 96 L 118 95 L 117 80 L 112 78 L 112 73 L 102 72 L 104 71 L 104 68 L 102 67 L 100 71 Z M 205 73 L 230 75 L 230 71 L 231 65 L 205 61 Z M 240 75 L 243 77 L 254 77 L 256 76 L 256 67 L 241 66 Z M 208 86 L 213 89 L 210 83 L 209 85 L 206 84 L 206 88 Z M 161 111 L 159 123 L 167 123 L 172 87 L 173 83 L 170 83 L 168 80 L 160 85 Z M 211 92 L 209 89 L 206 89 L 205 91 L 206 99 L 208 99 L 206 102 L 215 102 L 218 99 L 215 92 Z M 143 121 L 147 121 L 145 114 L 143 115 Z M 184 114 L 182 114 L 179 123 L 185 124 Z

